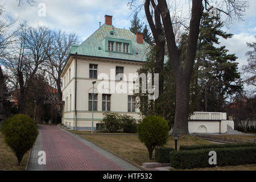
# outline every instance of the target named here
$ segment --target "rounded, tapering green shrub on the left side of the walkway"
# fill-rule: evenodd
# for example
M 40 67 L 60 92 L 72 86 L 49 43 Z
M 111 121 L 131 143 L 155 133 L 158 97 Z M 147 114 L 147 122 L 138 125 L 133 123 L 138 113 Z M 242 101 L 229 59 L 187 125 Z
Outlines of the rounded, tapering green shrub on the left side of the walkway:
M 16 114 L 2 123 L 1 131 L 5 142 L 14 151 L 19 165 L 23 155 L 30 150 L 38 136 L 34 120 L 27 115 Z

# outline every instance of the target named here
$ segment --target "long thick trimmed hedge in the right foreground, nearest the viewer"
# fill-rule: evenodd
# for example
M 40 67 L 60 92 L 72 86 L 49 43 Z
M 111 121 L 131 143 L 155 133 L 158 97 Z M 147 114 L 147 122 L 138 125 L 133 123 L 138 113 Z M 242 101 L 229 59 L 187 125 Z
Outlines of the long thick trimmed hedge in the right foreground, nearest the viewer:
M 217 165 L 209 164 L 209 151 L 216 151 Z M 255 164 L 256 146 L 171 151 L 170 163 L 171 167 L 181 169 Z

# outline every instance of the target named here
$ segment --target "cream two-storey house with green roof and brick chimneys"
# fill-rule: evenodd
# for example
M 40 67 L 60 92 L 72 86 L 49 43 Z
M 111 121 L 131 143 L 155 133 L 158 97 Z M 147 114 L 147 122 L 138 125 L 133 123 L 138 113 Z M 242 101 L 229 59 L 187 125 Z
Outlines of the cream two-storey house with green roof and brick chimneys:
M 92 129 L 92 98 L 94 99 L 94 130 L 102 121 L 105 112 L 131 115 L 139 120 L 139 109 L 135 106 L 133 90 L 127 93 L 112 92 L 104 88 L 98 90 L 103 81 L 111 84 L 131 84 L 123 79 L 129 73 L 136 73 L 146 61 L 149 44 L 143 34 L 136 35 L 112 25 L 112 16 L 105 15 L 105 23 L 83 43 L 73 45 L 64 66 L 63 79 L 63 118 L 62 123 L 71 129 Z M 108 78 L 102 79 L 102 75 Z M 92 84 L 93 81 L 96 84 Z M 94 88 L 94 94 L 93 94 Z M 94 97 L 93 97 L 94 96 Z

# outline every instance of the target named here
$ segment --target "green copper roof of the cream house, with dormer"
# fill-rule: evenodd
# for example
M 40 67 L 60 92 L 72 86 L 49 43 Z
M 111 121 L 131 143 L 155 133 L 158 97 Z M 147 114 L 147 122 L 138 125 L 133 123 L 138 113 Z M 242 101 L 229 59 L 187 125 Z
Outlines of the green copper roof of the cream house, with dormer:
M 114 34 L 111 35 L 110 31 L 113 31 Z M 108 40 L 129 43 L 129 53 L 108 51 Z M 75 54 L 77 52 L 77 55 L 146 61 L 146 52 L 149 49 L 150 46 L 145 41 L 143 41 L 143 44 L 137 43 L 136 35 L 133 32 L 103 24 L 80 46 L 73 45 L 70 53 Z

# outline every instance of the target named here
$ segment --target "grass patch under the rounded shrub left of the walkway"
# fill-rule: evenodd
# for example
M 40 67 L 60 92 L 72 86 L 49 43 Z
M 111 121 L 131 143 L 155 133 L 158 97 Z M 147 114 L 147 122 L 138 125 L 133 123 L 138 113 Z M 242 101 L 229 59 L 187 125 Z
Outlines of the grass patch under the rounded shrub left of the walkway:
M 9 146 L 5 143 L 3 139 L 3 134 L 0 132 L 0 170 L 9 170 L 9 171 L 19 171 L 25 170 L 27 160 L 27 152 L 22 159 L 22 162 L 17 166 L 18 162 L 14 152 Z

